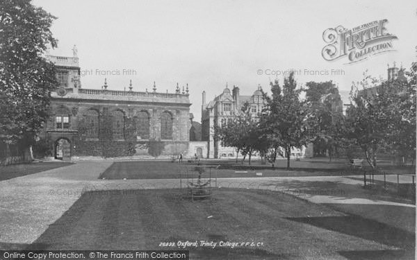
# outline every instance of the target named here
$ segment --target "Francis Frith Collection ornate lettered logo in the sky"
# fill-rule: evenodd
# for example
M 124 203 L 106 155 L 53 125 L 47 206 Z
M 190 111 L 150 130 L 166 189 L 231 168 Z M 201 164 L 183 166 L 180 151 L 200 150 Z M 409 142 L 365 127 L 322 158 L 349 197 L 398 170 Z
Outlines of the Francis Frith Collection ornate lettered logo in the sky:
M 325 60 L 337 60 L 347 56 L 349 62 L 359 62 L 372 55 L 395 51 L 393 40 L 398 37 L 386 31 L 387 19 L 371 21 L 348 30 L 343 26 L 328 28 L 323 33 L 327 45 L 322 49 Z

